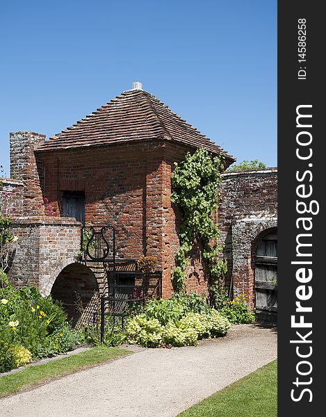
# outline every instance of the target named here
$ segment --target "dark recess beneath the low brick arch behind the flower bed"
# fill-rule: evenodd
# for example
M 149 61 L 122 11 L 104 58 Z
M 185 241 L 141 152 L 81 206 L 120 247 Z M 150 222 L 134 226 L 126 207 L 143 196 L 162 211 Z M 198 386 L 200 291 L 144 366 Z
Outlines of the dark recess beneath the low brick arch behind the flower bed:
M 98 299 L 99 286 L 97 279 L 88 266 L 83 263 L 73 262 L 65 265 L 60 270 L 51 288 L 51 296 L 54 300 L 63 303 L 67 317 L 72 324 L 81 319 L 85 311 L 90 309 Z

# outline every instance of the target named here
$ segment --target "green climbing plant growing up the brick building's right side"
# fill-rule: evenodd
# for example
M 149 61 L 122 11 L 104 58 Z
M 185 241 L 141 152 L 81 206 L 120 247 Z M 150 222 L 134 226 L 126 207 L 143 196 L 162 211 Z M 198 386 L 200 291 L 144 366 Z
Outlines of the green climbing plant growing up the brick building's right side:
M 184 292 L 184 272 L 195 243 L 202 245 L 202 255 L 211 275 L 211 290 L 220 289 L 220 277 L 227 266 L 219 256 L 223 246 L 218 244 L 220 231 L 213 222 L 212 214 L 218 207 L 218 190 L 224 170 L 222 157 L 213 157 L 202 148 L 193 154 L 186 154 L 184 161 L 174 163 L 171 199 L 182 214 L 180 249 L 175 256 L 176 268 L 172 271 L 174 293 Z

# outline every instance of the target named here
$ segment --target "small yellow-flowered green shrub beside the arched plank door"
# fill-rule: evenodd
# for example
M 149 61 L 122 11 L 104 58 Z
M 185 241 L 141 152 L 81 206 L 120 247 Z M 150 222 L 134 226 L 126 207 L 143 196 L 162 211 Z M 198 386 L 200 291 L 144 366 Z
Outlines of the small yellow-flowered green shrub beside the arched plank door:
M 249 310 L 248 302 L 249 299 L 247 300 L 245 294 L 235 297 L 234 300 L 224 301 L 222 308 L 219 309 L 220 314 L 233 324 L 252 323 L 256 317 L 254 312 Z

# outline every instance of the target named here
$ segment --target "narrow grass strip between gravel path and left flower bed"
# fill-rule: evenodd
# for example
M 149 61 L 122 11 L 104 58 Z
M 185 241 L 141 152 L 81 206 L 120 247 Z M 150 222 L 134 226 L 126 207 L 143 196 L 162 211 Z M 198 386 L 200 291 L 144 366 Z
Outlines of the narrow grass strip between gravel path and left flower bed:
M 0 377 L 0 398 L 75 373 L 81 369 L 91 368 L 128 353 L 130 352 L 118 347 L 97 346 L 71 357 L 31 366 L 21 372 Z

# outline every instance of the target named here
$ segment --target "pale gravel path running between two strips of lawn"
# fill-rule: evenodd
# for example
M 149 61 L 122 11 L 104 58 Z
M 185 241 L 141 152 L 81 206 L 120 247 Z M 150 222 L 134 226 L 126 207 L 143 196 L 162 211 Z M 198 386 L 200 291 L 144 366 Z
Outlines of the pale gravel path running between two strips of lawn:
M 0 400 L 1 417 L 175 417 L 277 357 L 277 333 L 231 327 L 196 347 L 145 349 Z

